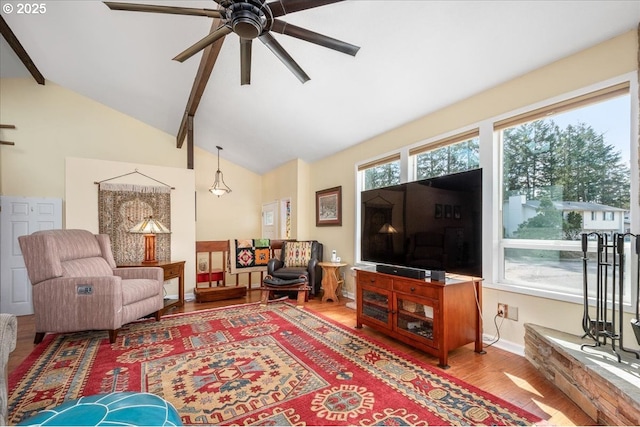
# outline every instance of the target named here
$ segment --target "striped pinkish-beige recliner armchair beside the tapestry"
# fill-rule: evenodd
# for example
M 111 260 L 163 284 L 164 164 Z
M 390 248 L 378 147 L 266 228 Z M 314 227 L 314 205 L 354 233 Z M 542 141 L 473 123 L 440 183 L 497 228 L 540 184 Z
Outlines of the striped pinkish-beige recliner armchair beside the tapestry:
M 89 330 L 108 330 L 113 343 L 124 324 L 160 320 L 163 270 L 116 268 L 108 235 L 46 230 L 18 241 L 33 285 L 36 344 L 47 332 Z

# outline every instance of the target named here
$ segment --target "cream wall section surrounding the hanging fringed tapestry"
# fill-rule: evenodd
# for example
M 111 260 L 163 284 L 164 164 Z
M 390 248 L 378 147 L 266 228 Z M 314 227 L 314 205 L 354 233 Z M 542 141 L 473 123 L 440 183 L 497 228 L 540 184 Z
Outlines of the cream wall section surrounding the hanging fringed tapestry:
M 195 174 L 185 168 L 170 168 L 142 163 L 69 157 L 66 159 L 66 228 L 81 228 L 97 233 L 98 186 L 94 182 L 138 170 L 174 187 L 171 190 L 171 259 L 185 260 L 185 294 L 195 283 Z M 161 185 L 139 174 L 109 180 L 113 184 Z M 142 239 L 142 236 L 140 236 Z M 177 295 L 177 279 L 165 286 L 167 294 Z

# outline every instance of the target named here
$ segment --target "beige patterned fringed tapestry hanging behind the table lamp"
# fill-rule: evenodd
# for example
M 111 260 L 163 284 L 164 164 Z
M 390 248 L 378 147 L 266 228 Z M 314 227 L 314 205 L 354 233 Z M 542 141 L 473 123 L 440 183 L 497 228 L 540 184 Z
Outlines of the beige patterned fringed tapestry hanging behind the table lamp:
M 98 215 L 99 232 L 111 238 L 116 264 L 139 264 L 144 259 L 144 237 L 129 230 L 149 216 L 171 230 L 171 188 L 100 183 Z M 171 260 L 171 234 L 156 235 L 156 259 Z

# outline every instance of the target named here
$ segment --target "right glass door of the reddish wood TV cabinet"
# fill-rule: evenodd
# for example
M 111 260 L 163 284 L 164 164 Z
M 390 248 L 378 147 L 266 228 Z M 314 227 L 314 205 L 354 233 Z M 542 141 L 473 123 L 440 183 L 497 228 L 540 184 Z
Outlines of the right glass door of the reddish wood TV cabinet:
M 438 301 L 420 298 L 420 302 L 404 295 L 396 295 L 396 331 L 402 335 L 426 340 L 438 348 Z

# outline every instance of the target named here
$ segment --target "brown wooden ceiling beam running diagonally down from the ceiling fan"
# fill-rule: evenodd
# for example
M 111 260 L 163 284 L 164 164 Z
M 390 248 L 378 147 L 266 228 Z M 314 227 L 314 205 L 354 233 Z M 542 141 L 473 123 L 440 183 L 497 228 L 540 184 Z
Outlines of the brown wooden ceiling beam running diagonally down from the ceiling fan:
M 222 20 L 219 18 L 214 18 L 213 23 L 211 24 L 211 31 L 216 30 L 218 27 L 220 27 L 220 25 L 222 25 Z M 207 87 L 207 82 L 209 81 L 209 77 L 211 76 L 211 72 L 213 71 L 213 66 L 218 59 L 218 55 L 220 54 L 220 49 L 222 48 L 224 39 L 225 38 L 223 37 L 217 40 L 215 43 L 210 44 L 209 46 L 204 48 L 202 52 L 202 58 L 200 59 L 198 73 L 196 74 L 196 78 L 193 81 L 191 94 L 189 95 L 189 100 L 187 101 L 187 106 L 185 107 L 184 115 L 182 116 L 182 121 L 180 123 L 180 129 L 178 130 L 178 135 L 176 136 L 176 143 L 178 148 L 182 148 L 182 144 L 184 143 L 187 132 L 189 131 L 189 123 L 193 123 L 193 117 L 198 110 L 198 105 L 200 105 L 202 94 Z M 191 129 L 191 131 L 193 131 L 193 129 Z M 187 143 L 192 144 L 193 137 L 189 138 Z M 193 150 L 193 147 L 191 147 L 190 149 Z

